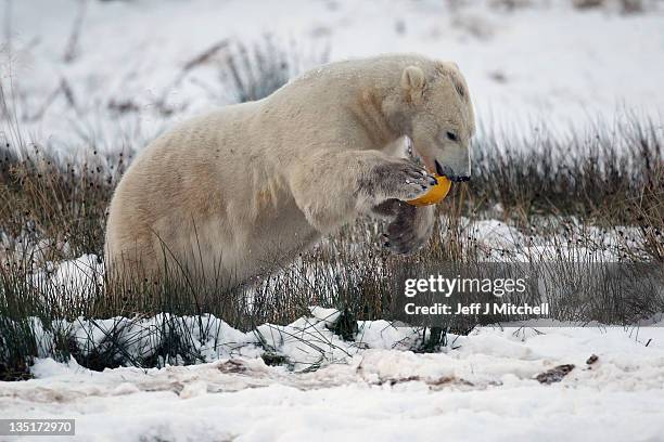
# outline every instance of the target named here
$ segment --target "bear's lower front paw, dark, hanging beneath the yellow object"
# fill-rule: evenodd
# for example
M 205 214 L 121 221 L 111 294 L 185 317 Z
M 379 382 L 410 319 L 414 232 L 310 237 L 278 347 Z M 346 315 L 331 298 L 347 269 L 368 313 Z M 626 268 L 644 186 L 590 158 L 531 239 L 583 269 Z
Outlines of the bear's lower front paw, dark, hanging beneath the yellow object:
M 396 255 L 412 253 L 424 246 L 432 229 L 432 208 L 416 208 L 401 203 L 399 213 L 387 224 L 387 232 L 382 235 L 383 247 Z

